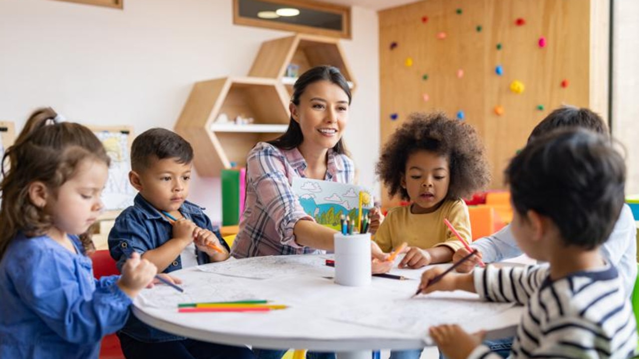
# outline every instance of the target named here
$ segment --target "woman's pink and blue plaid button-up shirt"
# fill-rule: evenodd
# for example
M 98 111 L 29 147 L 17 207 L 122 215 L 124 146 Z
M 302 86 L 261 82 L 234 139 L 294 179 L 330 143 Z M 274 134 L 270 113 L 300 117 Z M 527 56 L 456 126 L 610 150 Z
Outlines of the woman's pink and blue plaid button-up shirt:
M 293 178 L 306 177 L 307 164 L 297 148 L 280 149 L 259 142 L 247 158 L 246 202 L 231 255 L 236 258 L 318 254 L 298 245 L 293 227 L 298 220 L 313 220 L 296 199 Z M 355 166 L 346 155 L 328 149 L 325 181 L 353 183 Z

